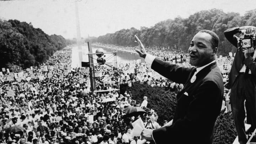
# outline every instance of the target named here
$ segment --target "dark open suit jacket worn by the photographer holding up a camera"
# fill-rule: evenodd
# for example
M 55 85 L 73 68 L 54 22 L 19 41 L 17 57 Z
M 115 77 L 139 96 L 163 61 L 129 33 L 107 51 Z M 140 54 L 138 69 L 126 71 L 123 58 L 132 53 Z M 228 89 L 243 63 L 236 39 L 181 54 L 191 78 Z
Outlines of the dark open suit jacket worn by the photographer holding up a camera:
M 239 32 L 239 27 L 235 27 L 235 28 L 230 28 L 226 31 L 224 31 L 224 35 L 226 37 L 226 39 L 233 44 L 236 48 L 237 48 L 237 38 L 235 36 L 236 33 Z M 242 50 L 236 50 L 236 55 L 233 61 L 233 64 L 231 66 L 231 70 L 229 73 L 229 81 L 228 84 L 226 85 L 226 88 L 231 89 L 231 87 L 233 86 L 236 77 L 239 75 L 239 71 L 241 70 L 243 65 L 246 65 L 250 70 L 252 75 L 252 80 L 254 82 L 256 82 L 256 63 L 254 62 L 254 60 L 252 59 L 252 57 L 248 57 L 247 59 L 245 59 L 244 57 L 244 53 L 242 52 Z

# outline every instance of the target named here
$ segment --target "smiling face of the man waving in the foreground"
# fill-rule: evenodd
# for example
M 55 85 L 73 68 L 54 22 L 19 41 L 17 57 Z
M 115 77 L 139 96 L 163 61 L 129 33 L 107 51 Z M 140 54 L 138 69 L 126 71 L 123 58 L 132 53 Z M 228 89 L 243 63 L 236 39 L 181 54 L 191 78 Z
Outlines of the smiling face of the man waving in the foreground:
M 213 60 L 211 39 L 212 36 L 205 32 L 199 32 L 193 37 L 188 48 L 191 65 L 201 67 Z

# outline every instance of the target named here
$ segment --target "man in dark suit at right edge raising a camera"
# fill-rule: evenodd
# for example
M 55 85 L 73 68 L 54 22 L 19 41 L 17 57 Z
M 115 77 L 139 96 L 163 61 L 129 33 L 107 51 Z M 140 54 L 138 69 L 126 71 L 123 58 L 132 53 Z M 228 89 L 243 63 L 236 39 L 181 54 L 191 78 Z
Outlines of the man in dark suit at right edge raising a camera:
M 256 27 L 243 26 L 230 28 L 224 32 L 228 41 L 237 47 L 237 39 L 235 36 L 240 30 L 246 30 L 246 33 L 255 33 Z M 251 56 L 252 55 L 252 56 Z M 235 122 L 236 132 L 238 133 L 238 141 L 240 144 L 247 142 L 245 132 L 245 108 L 247 113 L 247 123 L 251 124 L 248 132 L 253 132 L 256 128 L 256 53 L 254 48 L 244 48 L 236 50 L 236 55 L 229 73 L 229 81 L 226 88 L 231 88 L 230 103 L 233 118 Z M 246 100 L 246 106 L 244 102 Z

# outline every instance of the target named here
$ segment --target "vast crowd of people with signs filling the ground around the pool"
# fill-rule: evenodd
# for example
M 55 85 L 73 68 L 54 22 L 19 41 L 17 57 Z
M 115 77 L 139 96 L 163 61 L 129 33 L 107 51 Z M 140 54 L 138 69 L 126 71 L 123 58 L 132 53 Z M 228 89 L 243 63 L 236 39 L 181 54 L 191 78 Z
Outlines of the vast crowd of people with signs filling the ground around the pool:
M 188 56 L 180 52 L 162 53 L 151 48 L 149 53 L 171 63 L 190 66 Z M 218 59 L 224 83 L 232 61 L 233 57 Z M 66 48 L 57 51 L 46 63 L 24 71 L 2 69 L 0 143 L 142 144 L 145 139 L 133 136 L 132 122 L 138 117 L 126 117 L 123 110 L 130 106 L 144 108 L 147 112 L 142 116 L 144 126 L 151 129 L 161 127 L 158 116 L 147 108 L 147 97 L 140 105 L 133 100 L 131 92 L 119 94 L 119 85 L 140 82 L 176 92 L 183 88 L 182 84 L 167 80 L 138 62 L 120 64 L 117 71 L 111 71 L 113 67 L 97 66 L 95 71 L 105 71 L 96 78 L 96 90 L 103 92 L 91 92 L 88 70 L 70 68 L 70 64 L 71 49 Z M 226 107 L 229 93 L 226 91 L 223 101 Z

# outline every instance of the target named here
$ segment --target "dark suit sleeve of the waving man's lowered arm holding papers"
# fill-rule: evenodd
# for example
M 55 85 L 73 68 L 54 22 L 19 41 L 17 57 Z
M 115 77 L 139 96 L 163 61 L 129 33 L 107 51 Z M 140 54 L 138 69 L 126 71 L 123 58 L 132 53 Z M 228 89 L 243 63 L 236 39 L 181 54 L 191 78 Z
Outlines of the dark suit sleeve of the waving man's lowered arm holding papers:
M 171 126 L 153 130 L 152 137 L 156 144 L 182 142 L 188 135 L 198 136 L 200 132 L 213 128 L 222 105 L 220 88 L 213 81 L 206 81 L 193 97 L 184 119 L 178 119 Z

